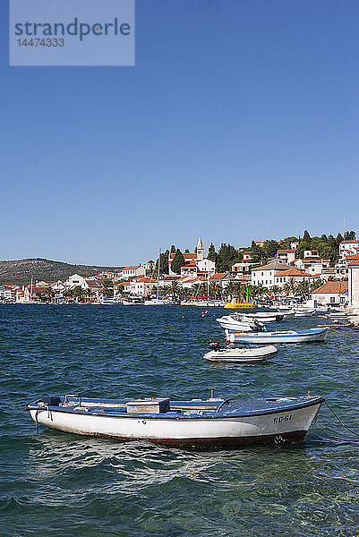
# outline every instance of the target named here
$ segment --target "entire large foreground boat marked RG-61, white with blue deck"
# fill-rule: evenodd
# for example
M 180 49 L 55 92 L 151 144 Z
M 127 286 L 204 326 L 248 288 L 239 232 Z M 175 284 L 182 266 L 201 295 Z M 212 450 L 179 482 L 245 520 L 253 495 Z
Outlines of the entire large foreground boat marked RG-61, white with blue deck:
M 27 410 L 38 425 L 107 439 L 183 447 L 235 447 L 302 440 L 321 396 L 170 401 L 46 396 Z

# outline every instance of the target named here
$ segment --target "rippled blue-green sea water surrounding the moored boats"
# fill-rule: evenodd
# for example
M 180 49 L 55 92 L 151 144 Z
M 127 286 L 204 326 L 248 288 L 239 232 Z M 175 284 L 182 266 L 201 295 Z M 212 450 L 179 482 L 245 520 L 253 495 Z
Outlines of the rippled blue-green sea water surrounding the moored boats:
M 262 365 L 210 364 L 221 309 L 0 304 L 1 536 L 359 535 L 359 442 L 326 406 L 288 447 L 191 452 L 40 430 L 43 395 L 325 396 L 359 434 L 359 332 L 278 345 Z M 286 320 L 309 328 L 317 317 Z M 325 322 L 325 321 L 324 321 Z

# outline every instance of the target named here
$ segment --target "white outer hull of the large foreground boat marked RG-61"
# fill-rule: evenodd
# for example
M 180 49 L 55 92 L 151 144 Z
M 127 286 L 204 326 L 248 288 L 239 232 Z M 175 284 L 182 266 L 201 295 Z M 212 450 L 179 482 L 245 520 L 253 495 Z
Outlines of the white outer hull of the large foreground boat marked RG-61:
M 148 440 L 183 447 L 236 447 L 271 442 L 296 442 L 304 438 L 321 408 L 323 399 L 283 407 L 266 413 L 236 416 L 186 416 L 174 419 L 155 415 L 99 415 L 66 411 L 54 406 L 35 408 L 32 419 L 51 429 L 119 440 Z

